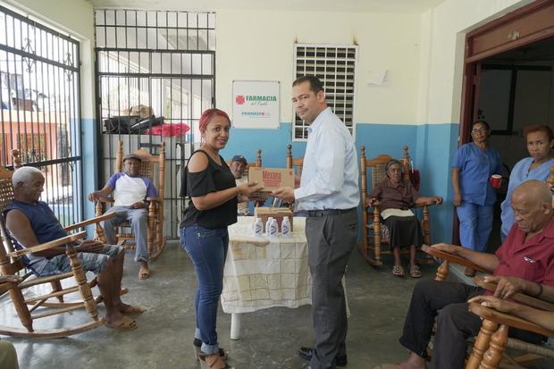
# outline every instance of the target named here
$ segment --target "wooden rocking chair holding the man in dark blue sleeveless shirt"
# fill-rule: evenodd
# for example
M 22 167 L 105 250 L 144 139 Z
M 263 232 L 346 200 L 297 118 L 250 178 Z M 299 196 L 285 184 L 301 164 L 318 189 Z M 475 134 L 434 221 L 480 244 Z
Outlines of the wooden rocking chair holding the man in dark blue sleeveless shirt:
M 17 156 L 17 150 L 14 150 Z M 15 162 L 14 162 L 15 163 Z M 91 288 L 96 286 L 96 278 L 92 281 L 87 281 L 85 272 L 83 271 L 80 259 L 72 247 L 72 242 L 78 239 L 83 239 L 86 235 L 85 231 L 80 231 L 70 236 L 56 239 L 51 242 L 40 244 L 34 247 L 16 249 L 13 245 L 13 240 L 10 237 L 4 222 L 4 207 L 13 201 L 13 185 L 12 171 L 0 167 L 0 231 L 2 233 L 2 247 L 0 247 L 0 273 L 1 275 L 20 275 L 22 281 L 17 283 L 4 283 L 2 289 L 9 291 L 10 299 L 19 316 L 22 327 L 7 327 L 0 326 L 0 334 L 14 337 L 38 337 L 38 338 L 61 338 L 72 334 L 77 334 L 83 331 L 88 331 L 104 325 L 104 318 L 98 316 L 97 302 L 100 298 L 93 298 Z M 97 224 L 99 232 L 102 229 L 99 222 L 111 218 L 113 215 L 104 215 L 99 218 L 94 218 L 86 222 L 80 222 L 65 228 L 66 231 L 75 231 L 82 229 L 89 224 Z M 65 245 L 66 254 L 70 259 L 71 272 L 50 275 L 46 277 L 34 277 L 34 274 L 27 271 L 25 267 L 25 257 L 28 254 L 44 251 L 53 247 Z M 61 281 L 73 277 L 77 282 L 76 286 L 63 288 Z M 46 294 L 28 294 L 26 289 L 39 286 L 50 285 L 51 292 Z M 33 289 L 33 292 L 36 292 Z M 64 302 L 63 296 L 80 292 L 82 300 Z M 7 307 L 7 306 L 6 306 Z M 55 314 L 71 313 L 80 308 L 85 308 L 90 321 L 80 325 L 71 326 L 59 329 L 35 329 L 33 323 L 35 320 L 52 316 Z M 36 313 L 36 314 L 35 314 Z M 5 313 L 3 313 L 5 314 Z

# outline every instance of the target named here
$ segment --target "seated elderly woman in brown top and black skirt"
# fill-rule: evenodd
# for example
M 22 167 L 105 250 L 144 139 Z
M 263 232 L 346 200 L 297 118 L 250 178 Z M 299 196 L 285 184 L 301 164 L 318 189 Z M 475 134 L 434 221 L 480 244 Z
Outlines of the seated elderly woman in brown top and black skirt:
M 416 265 L 416 247 L 421 247 L 422 231 L 416 216 L 409 209 L 417 204 L 442 204 L 442 197 L 420 197 L 409 181 L 402 180 L 402 165 L 390 160 L 385 166 L 387 178 L 375 186 L 367 199 L 367 206 L 379 206 L 384 224 L 389 228 L 389 244 L 394 255 L 392 273 L 404 277 L 400 260 L 400 248 L 410 247 L 409 273 L 413 278 L 421 277 Z

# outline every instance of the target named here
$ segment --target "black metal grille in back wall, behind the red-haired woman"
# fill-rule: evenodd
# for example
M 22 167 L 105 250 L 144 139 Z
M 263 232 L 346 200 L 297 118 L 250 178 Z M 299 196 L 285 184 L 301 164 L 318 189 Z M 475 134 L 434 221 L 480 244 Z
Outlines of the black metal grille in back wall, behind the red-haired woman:
M 180 169 L 199 141 L 198 119 L 215 105 L 215 14 L 97 10 L 97 129 L 103 175 L 125 153 L 166 147 L 164 234 L 178 238 Z M 161 124 L 163 123 L 163 124 Z M 127 130 L 129 124 L 138 124 Z

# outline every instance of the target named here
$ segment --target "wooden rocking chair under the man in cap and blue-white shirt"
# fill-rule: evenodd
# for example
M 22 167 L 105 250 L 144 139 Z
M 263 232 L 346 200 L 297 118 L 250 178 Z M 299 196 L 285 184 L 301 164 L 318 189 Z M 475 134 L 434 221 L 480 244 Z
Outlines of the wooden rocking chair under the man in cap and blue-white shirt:
M 152 180 L 158 191 L 157 197 L 147 197 L 148 204 L 148 234 L 147 247 L 150 258 L 154 261 L 164 251 L 167 237 L 164 236 L 164 189 L 165 189 L 165 143 L 162 142 L 159 155 L 150 155 L 145 150 L 137 150 L 134 154 L 142 157 L 140 165 L 140 175 Z M 115 171 L 122 172 L 123 168 L 123 142 L 120 141 L 115 156 Z M 157 180 L 157 181 L 156 181 Z M 103 204 L 113 203 L 112 197 L 101 197 L 97 202 L 97 216 L 104 213 Z M 106 209 L 107 210 L 107 209 Z M 130 231 L 123 232 L 124 229 L 130 229 L 128 222 L 122 223 L 115 232 L 115 242 L 122 246 L 126 241 L 134 240 L 135 236 Z M 98 239 L 106 242 L 106 239 L 97 235 Z

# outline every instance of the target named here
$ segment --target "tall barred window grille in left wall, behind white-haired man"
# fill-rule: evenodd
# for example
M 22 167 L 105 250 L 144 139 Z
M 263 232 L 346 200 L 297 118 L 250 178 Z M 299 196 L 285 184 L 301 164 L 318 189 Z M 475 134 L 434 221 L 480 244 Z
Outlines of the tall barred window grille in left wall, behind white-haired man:
M 63 225 L 82 215 L 78 41 L 0 6 L 0 162 L 45 175 L 42 199 Z

